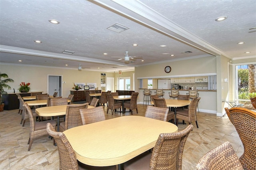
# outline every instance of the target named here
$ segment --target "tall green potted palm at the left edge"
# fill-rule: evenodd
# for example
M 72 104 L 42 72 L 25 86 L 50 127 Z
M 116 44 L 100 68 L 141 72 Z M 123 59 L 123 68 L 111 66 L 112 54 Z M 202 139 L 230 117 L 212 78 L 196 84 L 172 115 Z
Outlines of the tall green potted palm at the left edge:
M 0 72 L 0 112 L 4 111 L 4 103 L 2 101 L 2 94 L 7 94 L 7 92 L 4 91 L 4 88 L 11 89 L 11 87 L 7 84 L 9 82 L 14 82 L 14 80 L 9 79 L 7 74 Z

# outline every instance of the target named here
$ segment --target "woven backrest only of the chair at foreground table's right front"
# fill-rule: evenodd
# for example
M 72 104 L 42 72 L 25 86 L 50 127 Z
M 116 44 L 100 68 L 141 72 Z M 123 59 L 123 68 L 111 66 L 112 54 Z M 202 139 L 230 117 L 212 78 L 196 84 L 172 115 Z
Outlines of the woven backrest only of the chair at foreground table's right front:
M 150 160 L 150 170 L 181 170 L 186 140 L 193 125 L 175 133 L 162 133 L 156 141 Z

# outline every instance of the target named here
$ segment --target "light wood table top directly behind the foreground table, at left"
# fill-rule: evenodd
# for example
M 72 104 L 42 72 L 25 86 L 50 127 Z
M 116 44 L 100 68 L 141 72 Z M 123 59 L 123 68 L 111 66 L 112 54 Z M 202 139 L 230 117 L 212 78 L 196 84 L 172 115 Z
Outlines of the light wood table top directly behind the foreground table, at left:
M 94 106 L 88 105 L 88 108 L 94 108 Z M 36 113 L 39 116 L 60 116 L 66 115 L 67 105 L 40 107 L 36 109 Z

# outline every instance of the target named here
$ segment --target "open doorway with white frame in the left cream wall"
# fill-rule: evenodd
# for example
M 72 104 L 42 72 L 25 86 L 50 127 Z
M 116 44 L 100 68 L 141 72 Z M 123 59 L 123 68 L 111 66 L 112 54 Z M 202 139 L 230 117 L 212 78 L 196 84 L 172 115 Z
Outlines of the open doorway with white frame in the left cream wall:
M 53 95 L 57 92 L 59 96 L 62 96 L 62 75 L 48 75 L 48 94 Z

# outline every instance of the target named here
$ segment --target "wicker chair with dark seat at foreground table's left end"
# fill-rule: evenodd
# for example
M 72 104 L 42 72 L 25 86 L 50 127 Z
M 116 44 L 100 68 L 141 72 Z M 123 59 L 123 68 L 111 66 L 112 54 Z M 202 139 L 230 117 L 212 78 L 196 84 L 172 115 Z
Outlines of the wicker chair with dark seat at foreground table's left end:
M 63 132 L 56 132 L 50 123 L 46 125 L 47 132 L 52 136 L 58 146 L 60 170 L 116 170 L 116 166 L 95 167 L 82 164 L 76 159 L 75 152 Z

